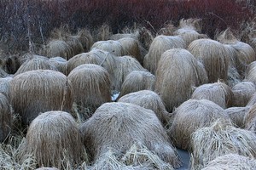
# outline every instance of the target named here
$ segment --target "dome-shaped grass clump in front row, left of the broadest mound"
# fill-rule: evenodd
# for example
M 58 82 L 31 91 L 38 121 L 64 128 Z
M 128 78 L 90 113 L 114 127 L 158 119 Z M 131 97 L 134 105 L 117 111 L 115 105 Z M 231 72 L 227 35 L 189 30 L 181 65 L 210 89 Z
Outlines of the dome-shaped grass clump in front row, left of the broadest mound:
M 75 147 L 74 147 L 75 146 Z M 76 166 L 83 157 L 82 138 L 77 123 L 69 113 L 48 111 L 37 116 L 26 133 L 20 157 L 32 155 L 38 166 Z

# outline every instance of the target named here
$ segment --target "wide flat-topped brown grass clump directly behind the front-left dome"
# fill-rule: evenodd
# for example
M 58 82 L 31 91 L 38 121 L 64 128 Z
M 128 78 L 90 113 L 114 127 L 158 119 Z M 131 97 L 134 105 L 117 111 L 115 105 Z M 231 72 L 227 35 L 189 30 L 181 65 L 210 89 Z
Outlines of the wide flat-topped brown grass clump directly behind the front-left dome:
M 25 124 L 40 112 L 69 112 L 73 105 L 71 84 L 59 71 L 26 71 L 13 78 L 10 88 L 11 105 Z

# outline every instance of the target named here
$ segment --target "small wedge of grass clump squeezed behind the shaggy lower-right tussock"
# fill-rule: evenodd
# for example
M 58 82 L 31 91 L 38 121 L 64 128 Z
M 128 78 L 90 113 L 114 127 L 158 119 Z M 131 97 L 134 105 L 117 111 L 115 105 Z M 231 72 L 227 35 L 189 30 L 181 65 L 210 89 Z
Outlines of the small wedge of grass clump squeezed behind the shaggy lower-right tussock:
M 225 111 L 230 116 L 231 121 L 236 127 L 244 127 L 244 117 L 247 112 L 250 110 L 250 107 L 230 107 L 225 109 Z

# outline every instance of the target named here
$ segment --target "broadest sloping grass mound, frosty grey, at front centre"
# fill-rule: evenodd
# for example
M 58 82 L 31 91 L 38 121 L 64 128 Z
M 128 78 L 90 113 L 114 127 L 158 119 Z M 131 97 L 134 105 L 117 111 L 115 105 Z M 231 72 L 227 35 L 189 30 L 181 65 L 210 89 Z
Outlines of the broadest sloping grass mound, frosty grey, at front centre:
M 154 111 L 129 103 L 106 103 L 80 127 L 92 161 L 112 149 L 122 156 L 132 144 L 143 144 L 162 161 L 179 167 L 177 150 Z

